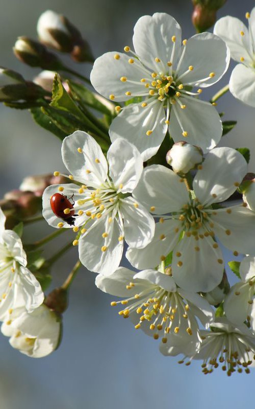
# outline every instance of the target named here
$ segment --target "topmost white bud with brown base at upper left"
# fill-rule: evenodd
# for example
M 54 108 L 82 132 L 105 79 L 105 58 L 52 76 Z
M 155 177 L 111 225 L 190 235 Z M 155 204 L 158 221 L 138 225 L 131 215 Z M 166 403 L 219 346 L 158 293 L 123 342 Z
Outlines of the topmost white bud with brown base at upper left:
M 45 11 L 38 20 L 37 32 L 40 41 L 47 47 L 70 53 L 75 61 L 94 61 L 87 41 L 63 15 L 52 10 Z

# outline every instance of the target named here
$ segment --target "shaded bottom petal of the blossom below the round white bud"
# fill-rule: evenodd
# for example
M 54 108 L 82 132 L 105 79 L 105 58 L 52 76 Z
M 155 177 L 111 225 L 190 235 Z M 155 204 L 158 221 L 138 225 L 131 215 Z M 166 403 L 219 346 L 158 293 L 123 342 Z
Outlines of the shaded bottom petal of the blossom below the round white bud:
M 177 285 L 188 291 L 208 292 L 221 282 L 224 270 L 222 254 L 219 247 L 213 247 L 213 243 L 210 236 L 198 240 L 184 236 L 177 244 L 172 260 L 172 275 Z

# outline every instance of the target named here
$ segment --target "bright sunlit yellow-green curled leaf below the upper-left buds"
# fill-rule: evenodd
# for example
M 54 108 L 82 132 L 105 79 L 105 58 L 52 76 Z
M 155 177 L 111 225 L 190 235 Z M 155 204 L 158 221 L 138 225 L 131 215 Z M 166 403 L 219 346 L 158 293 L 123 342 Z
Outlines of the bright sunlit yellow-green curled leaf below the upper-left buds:
M 50 106 L 67 112 L 71 112 L 77 118 L 82 117 L 82 112 L 80 111 L 78 106 L 75 105 L 71 97 L 67 94 L 58 74 L 56 74 L 54 77 L 52 88 L 52 102 L 50 102 Z

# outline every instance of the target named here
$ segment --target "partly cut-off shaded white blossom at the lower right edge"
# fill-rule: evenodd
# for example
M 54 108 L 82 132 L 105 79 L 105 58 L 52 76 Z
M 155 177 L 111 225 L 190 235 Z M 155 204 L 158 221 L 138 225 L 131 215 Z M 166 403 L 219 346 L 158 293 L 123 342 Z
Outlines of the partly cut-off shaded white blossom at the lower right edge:
M 232 323 L 248 320 L 255 331 L 255 257 L 245 257 L 240 264 L 241 282 L 233 285 L 224 301 L 225 314 Z

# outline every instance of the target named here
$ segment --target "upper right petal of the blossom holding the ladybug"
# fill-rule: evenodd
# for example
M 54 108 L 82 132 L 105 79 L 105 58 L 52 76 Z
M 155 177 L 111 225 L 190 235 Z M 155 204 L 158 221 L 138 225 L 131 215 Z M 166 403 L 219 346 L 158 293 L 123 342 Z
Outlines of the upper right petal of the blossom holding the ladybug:
M 143 160 L 138 149 L 122 138 L 116 139 L 107 152 L 109 174 L 122 193 L 133 192 L 143 170 Z

